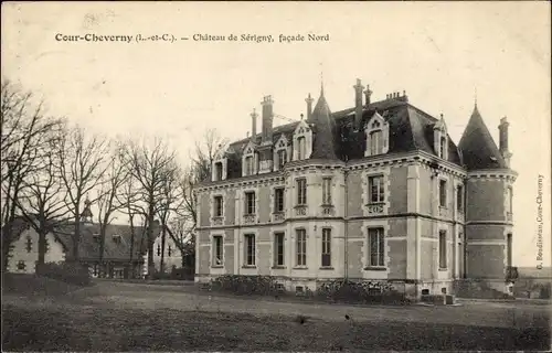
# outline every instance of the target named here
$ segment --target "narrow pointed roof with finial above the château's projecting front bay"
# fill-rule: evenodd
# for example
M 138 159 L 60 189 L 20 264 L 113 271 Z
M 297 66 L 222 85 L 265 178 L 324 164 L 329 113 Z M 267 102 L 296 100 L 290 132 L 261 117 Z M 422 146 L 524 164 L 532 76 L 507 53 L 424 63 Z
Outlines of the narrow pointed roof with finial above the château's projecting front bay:
M 331 116 L 330 107 L 323 96 L 323 87 L 320 90 L 320 97 L 312 110 L 312 116 L 309 121 L 314 125 L 314 140 L 311 159 L 338 159 L 338 150 L 336 145 L 336 121 Z

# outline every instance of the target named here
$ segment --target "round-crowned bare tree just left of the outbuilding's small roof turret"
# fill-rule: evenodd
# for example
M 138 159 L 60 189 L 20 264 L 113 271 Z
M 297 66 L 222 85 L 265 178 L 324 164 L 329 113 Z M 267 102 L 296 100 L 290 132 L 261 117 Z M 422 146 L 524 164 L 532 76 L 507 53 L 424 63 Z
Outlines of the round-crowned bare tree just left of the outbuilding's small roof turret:
M 108 168 L 104 158 L 109 153 L 109 143 L 97 135 L 86 136 L 84 129 L 76 126 L 64 133 L 59 150 L 61 178 L 67 193 L 66 204 L 74 220 L 71 259 L 78 261 L 81 204 L 83 197 L 102 182 Z

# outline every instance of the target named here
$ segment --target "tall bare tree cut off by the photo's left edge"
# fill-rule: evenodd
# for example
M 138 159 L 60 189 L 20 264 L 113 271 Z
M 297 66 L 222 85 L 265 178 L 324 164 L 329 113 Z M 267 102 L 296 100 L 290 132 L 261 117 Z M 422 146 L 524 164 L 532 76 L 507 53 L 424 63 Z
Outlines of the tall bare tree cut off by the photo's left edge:
M 62 119 L 45 117 L 42 101 L 35 103 L 32 93 L 23 92 L 9 79 L 1 83 L 0 152 L 2 224 L 2 270 L 8 266 L 14 238 L 13 222 L 20 215 L 18 200 L 25 188 L 25 178 L 38 172 L 42 154 L 47 151 L 44 136 Z

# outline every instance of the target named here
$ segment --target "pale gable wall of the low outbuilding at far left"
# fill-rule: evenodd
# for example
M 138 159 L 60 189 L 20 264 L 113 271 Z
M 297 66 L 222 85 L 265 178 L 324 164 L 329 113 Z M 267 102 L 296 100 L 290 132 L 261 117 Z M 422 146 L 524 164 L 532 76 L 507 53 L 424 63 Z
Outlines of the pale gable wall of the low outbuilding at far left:
M 31 252 L 26 250 L 26 239 L 31 238 Z M 44 256 L 44 263 L 59 263 L 65 260 L 63 246 L 56 240 L 53 234 L 46 234 L 49 250 Z M 26 229 L 21 233 L 21 236 L 13 242 L 13 249 L 10 253 L 12 256 L 8 263 L 10 272 L 34 274 L 35 263 L 39 259 L 39 234 L 34 229 Z M 25 268 L 18 269 L 19 261 L 24 261 Z

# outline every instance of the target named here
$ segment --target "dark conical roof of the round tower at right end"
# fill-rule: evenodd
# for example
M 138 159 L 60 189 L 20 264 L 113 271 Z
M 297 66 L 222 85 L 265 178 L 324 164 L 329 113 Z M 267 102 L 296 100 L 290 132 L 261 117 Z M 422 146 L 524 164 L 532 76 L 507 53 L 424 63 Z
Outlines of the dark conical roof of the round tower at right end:
M 468 170 L 508 168 L 479 114 L 477 104 L 474 107 L 474 113 L 471 113 L 468 126 L 464 130 L 458 147 L 461 150 L 463 161 Z

